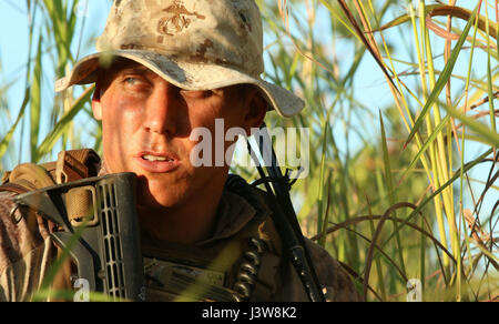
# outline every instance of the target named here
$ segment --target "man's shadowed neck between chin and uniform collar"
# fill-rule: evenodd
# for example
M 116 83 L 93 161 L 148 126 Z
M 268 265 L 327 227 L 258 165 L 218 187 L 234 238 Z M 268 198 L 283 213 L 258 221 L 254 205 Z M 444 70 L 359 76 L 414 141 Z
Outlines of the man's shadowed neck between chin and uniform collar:
M 139 206 L 142 231 L 153 239 L 180 244 L 195 244 L 212 233 L 223 186 L 210 194 L 193 194 L 186 202 L 163 209 Z M 217 198 L 217 199 L 214 199 Z

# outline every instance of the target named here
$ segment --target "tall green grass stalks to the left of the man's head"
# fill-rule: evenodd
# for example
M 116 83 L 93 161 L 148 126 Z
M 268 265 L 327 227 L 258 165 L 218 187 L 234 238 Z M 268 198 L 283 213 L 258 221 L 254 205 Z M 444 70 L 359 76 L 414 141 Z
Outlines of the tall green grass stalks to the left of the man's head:
M 92 131 L 89 124 L 75 125 L 74 118 L 90 117 L 91 88 L 81 91 L 53 93 L 53 80 L 62 78 L 77 61 L 77 51 L 83 47 L 81 39 L 84 16 L 79 16 L 80 0 L 33 1 L 26 0 L 29 48 L 26 52 L 24 93 L 20 108 L 9 107 L 2 119 L 10 121 L 8 130 L 1 132 L 0 158 L 6 161 L 41 162 L 51 160 L 61 149 L 79 146 L 82 130 Z M 7 44 L 2 44 L 7 48 Z M 7 80 L 10 82 L 13 80 Z M 3 99 L 7 100 L 7 99 Z M 12 115 L 16 112 L 17 115 Z M 90 123 L 92 125 L 92 123 Z M 93 131 L 95 131 L 93 125 Z M 95 131 L 98 132 L 98 131 Z M 29 145 L 26 145 L 26 143 Z M 19 146 L 19 153 L 8 148 Z M 9 159 L 6 159 L 9 158 Z M 16 163 L 14 163 L 16 164 Z M 12 166 L 8 163 L 6 166 Z

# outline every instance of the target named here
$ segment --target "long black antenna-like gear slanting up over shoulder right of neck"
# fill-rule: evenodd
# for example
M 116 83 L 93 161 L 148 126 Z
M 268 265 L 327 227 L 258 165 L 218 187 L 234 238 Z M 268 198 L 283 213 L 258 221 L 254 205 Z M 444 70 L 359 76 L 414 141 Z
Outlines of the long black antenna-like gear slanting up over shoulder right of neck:
M 261 180 L 256 181 L 254 184 L 264 183 L 266 191 L 269 194 L 273 194 L 277 202 L 276 210 L 273 213 L 273 221 L 276 230 L 282 236 L 287 256 L 292 261 L 305 291 L 308 294 L 308 298 L 310 302 L 325 302 L 324 293 L 322 292 L 317 274 L 305 245 L 304 235 L 289 196 L 289 190 L 293 183 L 291 182 L 287 172 L 286 175 L 283 175 L 281 168 L 278 166 L 277 158 L 265 123 L 262 125 L 256 140 L 267 174 L 262 168 L 262 164 L 248 141 L 247 146 L 249 154 L 256 163 L 261 176 Z

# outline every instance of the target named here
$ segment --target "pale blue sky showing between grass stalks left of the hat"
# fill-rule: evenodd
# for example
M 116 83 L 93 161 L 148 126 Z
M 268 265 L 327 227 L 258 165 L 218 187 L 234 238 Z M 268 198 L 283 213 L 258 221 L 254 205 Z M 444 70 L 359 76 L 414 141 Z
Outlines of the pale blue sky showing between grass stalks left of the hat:
M 72 48 L 73 55 L 82 58 L 86 54 L 94 52 L 94 38 L 100 34 L 105 26 L 105 19 L 111 8 L 111 1 L 109 0 L 80 0 L 80 6 L 75 9 L 77 14 L 84 17 L 80 20 L 80 26 L 77 30 L 82 30 L 82 34 L 78 36 L 83 40 L 90 40 L 90 42 L 74 41 Z M 39 21 L 39 17 L 35 18 Z M 84 26 L 83 26 L 84 23 Z M 12 119 L 16 118 L 23 100 L 24 83 L 26 83 L 26 63 L 28 61 L 28 14 L 26 12 L 26 2 L 18 0 L 0 0 L 0 30 L 2 31 L 0 38 L 0 84 L 4 84 L 6 81 L 14 82 L 8 92 L 9 110 L 11 111 Z M 84 28 L 81 28 L 84 27 Z M 33 39 L 38 40 L 40 32 L 43 30 L 34 29 Z M 37 43 L 37 41 L 34 41 Z M 35 51 L 33 51 L 35 52 Z M 52 58 L 44 55 L 43 65 L 52 65 Z M 50 71 L 45 69 L 44 71 Z M 42 98 L 44 107 L 51 107 L 53 102 L 53 83 L 55 77 L 53 74 L 43 75 L 42 82 Z M 81 91 L 77 89 L 75 91 Z M 48 118 L 42 115 L 42 118 Z M 82 118 L 83 119 L 83 118 Z M 81 132 L 84 135 L 85 125 L 92 121 L 82 120 Z M 13 123 L 13 121 L 11 121 Z M 41 122 L 40 130 L 42 134 L 47 134 L 49 130 L 47 126 L 49 123 Z M 0 128 L 6 126 L 0 124 Z M 1 130 L 0 134 L 4 134 L 7 130 Z M 19 132 L 17 132 L 19 133 Z M 19 140 L 19 135 L 16 139 Z M 28 143 L 29 139 L 23 139 L 24 143 Z M 93 145 L 93 140 L 88 139 L 88 145 Z M 16 154 L 19 161 L 12 161 L 12 164 L 29 161 L 30 156 L 27 156 L 21 151 Z

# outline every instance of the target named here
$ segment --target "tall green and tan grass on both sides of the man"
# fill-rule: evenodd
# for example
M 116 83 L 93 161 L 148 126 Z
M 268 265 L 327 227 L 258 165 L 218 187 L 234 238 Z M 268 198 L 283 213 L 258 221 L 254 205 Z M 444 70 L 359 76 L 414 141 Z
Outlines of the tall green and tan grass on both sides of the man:
M 86 41 L 78 2 L 26 1 L 20 107 L 6 109 L 10 80 L 0 84 L 3 162 L 21 160 L 19 145 L 39 162 L 88 143 L 74 120 L 89 120 L 92 89 L 50 101 L 43 78 L 63 75 Z M 294 119 L 266 121 L 310 130 L 310 174 L 293 188 L 305 233 L 368 301 L 405 301 L 411 279 L 426 301 L 497 300 L 497 1 L 257 2 L 265 78 L 307 103 Z M 99 125 L 85 131 L 99 149 Z

